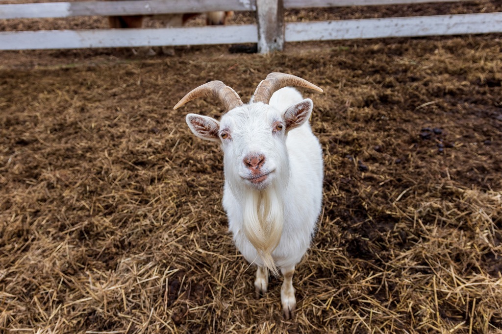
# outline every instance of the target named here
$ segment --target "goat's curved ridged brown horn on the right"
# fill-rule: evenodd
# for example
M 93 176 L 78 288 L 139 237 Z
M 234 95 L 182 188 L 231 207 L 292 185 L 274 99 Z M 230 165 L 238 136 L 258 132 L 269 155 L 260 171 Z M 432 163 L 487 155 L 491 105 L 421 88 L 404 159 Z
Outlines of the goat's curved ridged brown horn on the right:
M 285 73 L 270 73 L 265 80 L 260 82 L 255 91 L 253 102 L 263 102 L 269 104 L 270 98 L 275 91 L 287 86 L 300 86 L 317 90 L 322 93 L 322 89 L 307 80 Z

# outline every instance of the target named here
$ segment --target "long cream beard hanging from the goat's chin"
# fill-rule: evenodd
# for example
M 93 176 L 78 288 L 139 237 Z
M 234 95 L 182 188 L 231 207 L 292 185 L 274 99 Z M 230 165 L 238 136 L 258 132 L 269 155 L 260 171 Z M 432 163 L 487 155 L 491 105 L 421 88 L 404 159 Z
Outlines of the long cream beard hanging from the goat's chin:
M 262 191 L 244 192 L 243 232 L 256 248 L 265 266 L 279 275 L 272 252 L 279 245 L 284 226 L 283 196 L 276 185 Z

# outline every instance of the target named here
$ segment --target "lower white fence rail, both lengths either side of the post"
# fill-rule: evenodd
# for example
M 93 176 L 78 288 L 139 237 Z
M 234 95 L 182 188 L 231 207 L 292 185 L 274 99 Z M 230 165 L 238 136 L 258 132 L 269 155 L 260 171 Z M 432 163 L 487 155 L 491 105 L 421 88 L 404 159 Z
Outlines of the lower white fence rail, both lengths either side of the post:
M 286 42 L 502 33 L 502 13 L 287 23 Z M 257 25 L 0 33 L 0 50 L 257 43 Z

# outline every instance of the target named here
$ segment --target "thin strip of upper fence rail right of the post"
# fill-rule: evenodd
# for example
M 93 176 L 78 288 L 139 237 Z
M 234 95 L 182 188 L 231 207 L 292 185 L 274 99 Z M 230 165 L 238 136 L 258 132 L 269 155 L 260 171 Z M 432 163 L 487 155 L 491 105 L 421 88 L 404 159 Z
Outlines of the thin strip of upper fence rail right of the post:
M 458 3 L 472 0 L 284 0 L 284 8 L 320 8 L 350 6 L 406 5 L 423 3 Z

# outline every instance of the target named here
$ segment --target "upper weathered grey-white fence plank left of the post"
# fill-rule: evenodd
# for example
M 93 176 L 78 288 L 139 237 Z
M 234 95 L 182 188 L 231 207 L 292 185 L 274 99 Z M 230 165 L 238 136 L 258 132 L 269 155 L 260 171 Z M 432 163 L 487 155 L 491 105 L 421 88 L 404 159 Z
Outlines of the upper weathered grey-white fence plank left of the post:
M 0 5 L 0 19 L 256 11 L 255 4 L 256 0 L 81 1 L 72 3 L 14 4 Z

